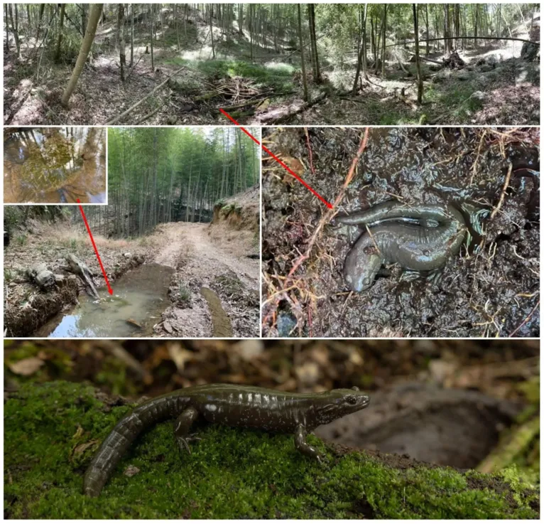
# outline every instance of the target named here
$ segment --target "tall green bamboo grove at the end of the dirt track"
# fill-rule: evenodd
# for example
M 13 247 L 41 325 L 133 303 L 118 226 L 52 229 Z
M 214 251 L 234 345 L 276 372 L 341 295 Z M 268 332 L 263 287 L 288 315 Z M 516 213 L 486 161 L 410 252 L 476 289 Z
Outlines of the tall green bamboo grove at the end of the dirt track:
M 259 154 L 234 127 L 111 128 L 108 205 L 87 206 L 87 218 L 97 234 L 124 238 L 159 223 L 209 222 L 215 203 L 259 183 Z

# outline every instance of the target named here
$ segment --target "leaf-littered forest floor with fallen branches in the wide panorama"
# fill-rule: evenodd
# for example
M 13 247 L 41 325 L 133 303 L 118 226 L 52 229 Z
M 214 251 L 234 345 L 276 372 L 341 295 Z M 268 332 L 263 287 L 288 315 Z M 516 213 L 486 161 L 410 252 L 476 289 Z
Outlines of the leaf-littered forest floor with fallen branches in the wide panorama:
M 528 38 L 526 26 L 512 33 Z M 34 64 L 38 53 L 32 39 L 22 36 L 23 61 L 16 61 L 13 52 L 4 57 L 4 124 L 106 124 L 180 68 L 116 124 L 229 124 L 219 108 L 239 122 L 257 125 L 540 122 L 540 64 L 519 58 L 521 42 L 467 49 L 460 53 L 466 62 L 461 70 L 433 70 L 435 65 L 423 62 L 421 107 L 415 104 L 415 64 L 401 46 L 395 48 L 398 60 L 386 63 L 386 77 L 371 72 L 355 94 L 351 93 L 355 59 L 339 65 L 322 55 L 325 82 L 316 85 L 308 74 L 310 100 L 316 103 L 307 106 L 302 99 L 300 58 L 290 57 L 284 44 L 273 50 L 271 43 L 267 48 L 254 46 L 251 59 L 249 35 L 240 34 L 236 23 L 228 43 L 222 28 L 214 26 L 214 50 L 206 21 L 199 19 L 180 29 L 180 50 L 175 28 L 166 24 L 155 43 L 154 68 L 146 54 L 147 37 L 138 38 L 148 34 L 147 26 L 137 24 L 134 34 L 136 65 L 123 83 L 112 43 L 114 25 L 99 28 L 94 58 L 82 72 L 70 108 L 60 105 L 60 97 L 72 63 L 53 64 L 46 55 L 38 80 Z M 431 53 L 429 58 L 444 57 Z

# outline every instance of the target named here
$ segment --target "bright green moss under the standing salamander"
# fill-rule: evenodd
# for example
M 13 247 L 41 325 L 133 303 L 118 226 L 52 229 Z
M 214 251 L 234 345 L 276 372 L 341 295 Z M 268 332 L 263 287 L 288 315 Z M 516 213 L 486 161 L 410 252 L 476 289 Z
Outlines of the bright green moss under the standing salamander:
M 317 464 L 293 437 L 209 425 L 180 454 L 171 422 L 127 452 L 101 496 L 82 495 L 99 442 L 129 406 L 108 407 L 92 387 L 25 385 L 4 410 L 8 518 L 538 518 L 538 494 L 514 470 L 459 473 L 406 459 L 338 454 Z M 404 461 L 404 466 L 398 466 Z M 124 474 L 136 466 L 136 476 Z M 534 509 L 532 509 L 532 507 Z

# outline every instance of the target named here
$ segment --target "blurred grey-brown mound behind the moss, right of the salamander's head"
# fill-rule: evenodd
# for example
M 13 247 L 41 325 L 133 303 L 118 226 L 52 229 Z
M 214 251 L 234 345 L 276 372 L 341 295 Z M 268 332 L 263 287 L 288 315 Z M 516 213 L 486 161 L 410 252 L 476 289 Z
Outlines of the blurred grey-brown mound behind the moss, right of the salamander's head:
M 406 383 L 376 392 L 366 410 L 319 427 L 315 434 L 349 447 L 469 469 L 496 447 L 500 430 L 522 408 L 521 402 L 481 392 Z

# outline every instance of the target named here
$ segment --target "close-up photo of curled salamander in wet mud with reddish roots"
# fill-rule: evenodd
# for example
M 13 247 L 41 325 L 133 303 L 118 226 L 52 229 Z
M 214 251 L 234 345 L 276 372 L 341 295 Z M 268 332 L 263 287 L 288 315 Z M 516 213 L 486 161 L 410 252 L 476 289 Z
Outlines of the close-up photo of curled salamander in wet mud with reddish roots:
M 539 143 L 538 128 L 264 128 L 263 335 L 539 336 Z

